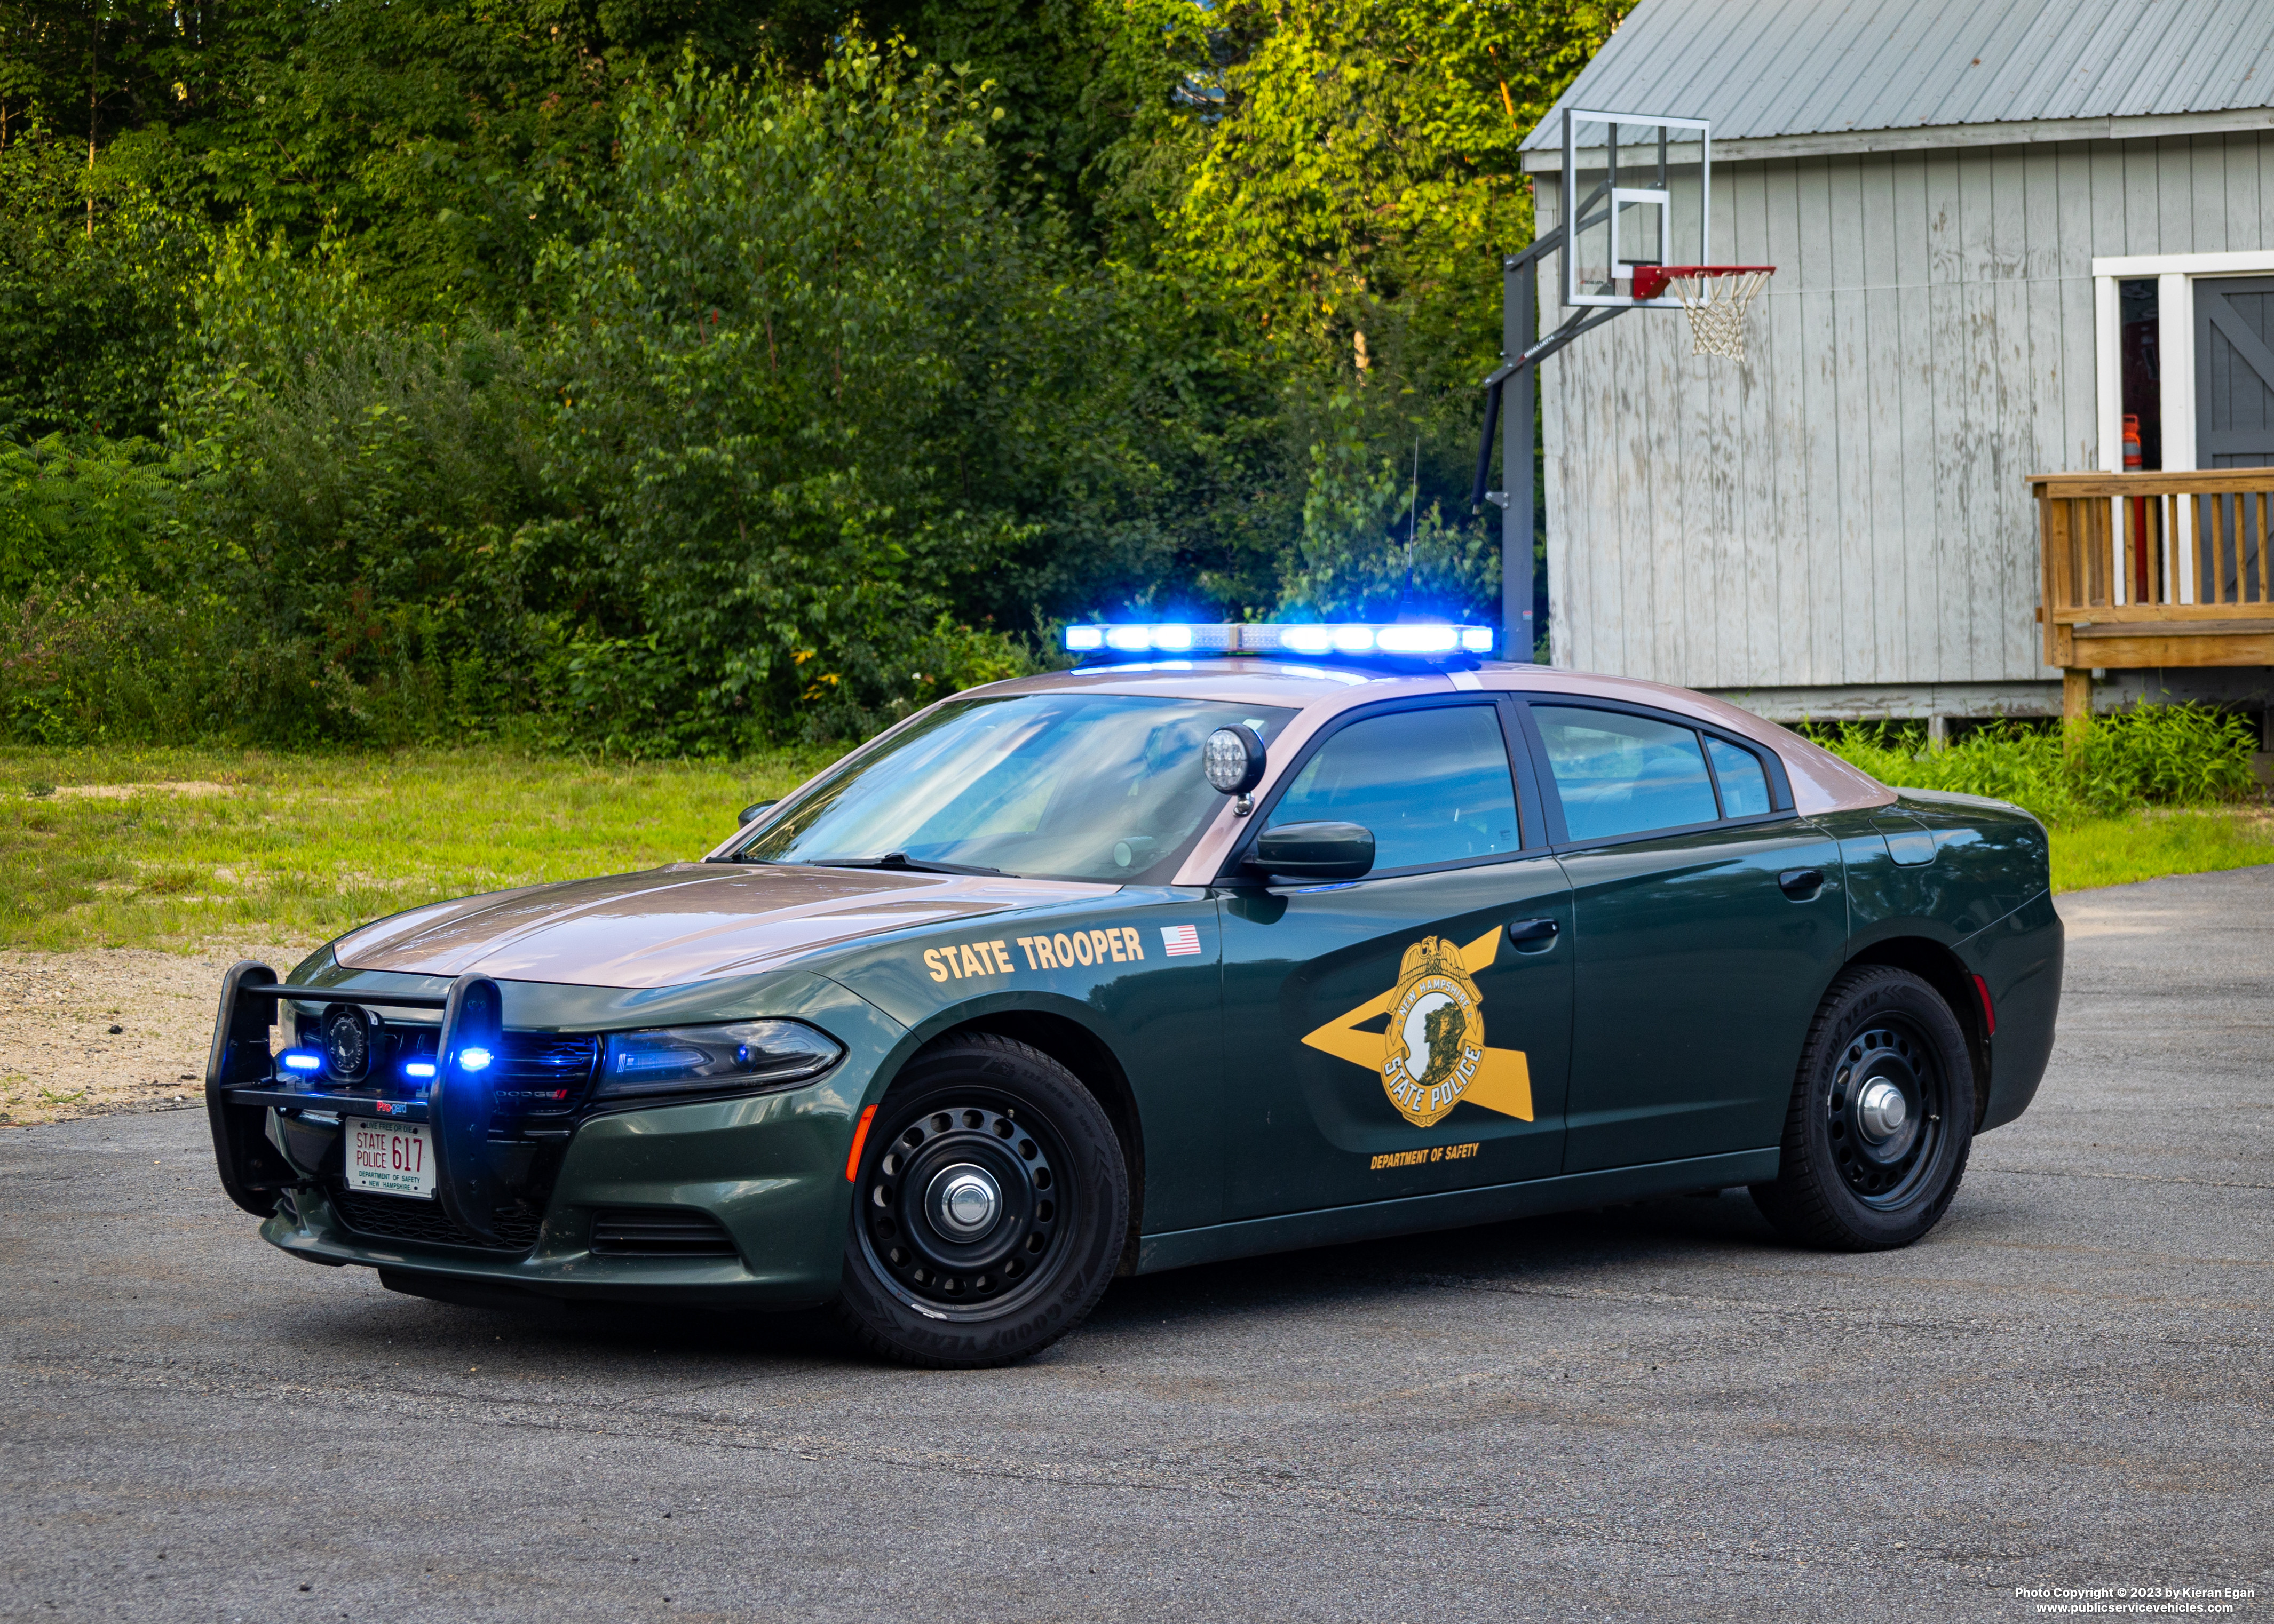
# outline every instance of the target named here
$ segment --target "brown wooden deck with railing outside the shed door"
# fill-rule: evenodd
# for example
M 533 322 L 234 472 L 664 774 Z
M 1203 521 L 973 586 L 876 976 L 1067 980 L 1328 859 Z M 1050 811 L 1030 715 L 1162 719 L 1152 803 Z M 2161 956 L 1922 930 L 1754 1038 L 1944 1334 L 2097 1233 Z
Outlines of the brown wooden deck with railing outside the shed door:
M 2038 473 L 2044 662 L 2063 710 L 2094 669 L 2274 666 L 2274 469 Z

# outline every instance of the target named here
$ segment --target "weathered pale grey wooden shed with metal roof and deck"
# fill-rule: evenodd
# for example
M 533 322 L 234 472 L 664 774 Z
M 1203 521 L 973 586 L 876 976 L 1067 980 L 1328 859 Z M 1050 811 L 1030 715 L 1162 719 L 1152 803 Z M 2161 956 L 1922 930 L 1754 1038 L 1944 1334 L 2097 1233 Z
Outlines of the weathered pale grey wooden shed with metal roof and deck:
M 2274 5 L 1642 0 L 1526 139 L 1542 232 L 1565 105 L 1712 121 L 1712 259 L 1778 271 L 1744 362 L 1640 309 L 1542 368 L 1555 664 L 2265 705 Z

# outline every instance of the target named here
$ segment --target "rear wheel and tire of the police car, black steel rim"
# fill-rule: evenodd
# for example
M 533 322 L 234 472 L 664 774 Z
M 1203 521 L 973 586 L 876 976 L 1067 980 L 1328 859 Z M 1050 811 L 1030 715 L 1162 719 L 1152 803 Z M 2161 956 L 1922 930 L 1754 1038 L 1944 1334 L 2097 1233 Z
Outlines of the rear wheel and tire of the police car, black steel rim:
M 1901 1101 L 1892 1126 L 1890 1099 Z M 1753 1185 L 1753 1203 L 1803 1246 L 1908 1246 L 1951 1205 L 1972 1149 L 1974 1058 L 1958 1017 L 1910 971 L 1865 964 L 1833 980 L 1808 1026 L 1778 1176 Z

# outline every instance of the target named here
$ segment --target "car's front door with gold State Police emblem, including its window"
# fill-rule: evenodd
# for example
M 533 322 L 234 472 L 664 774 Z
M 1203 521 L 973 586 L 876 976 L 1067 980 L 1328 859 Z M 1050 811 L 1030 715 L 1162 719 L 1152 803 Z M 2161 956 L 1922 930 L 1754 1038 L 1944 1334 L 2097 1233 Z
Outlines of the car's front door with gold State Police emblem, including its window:
M 1342 821 L 1376 864 L 1233 887 L 1226 1217 L 1546 1178 L 1562 1160 L 1571 898 L 1519 817 L 1489 696 L 1364 712 L 1258 823 Z

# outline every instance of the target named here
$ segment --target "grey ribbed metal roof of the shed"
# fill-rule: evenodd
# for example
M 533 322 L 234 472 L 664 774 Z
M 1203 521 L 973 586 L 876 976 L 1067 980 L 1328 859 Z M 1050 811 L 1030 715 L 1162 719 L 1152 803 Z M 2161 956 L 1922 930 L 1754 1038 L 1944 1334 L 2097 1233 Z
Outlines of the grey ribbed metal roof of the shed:
M 1642 0 L 1562 107 L 1771 136 L 2274 107 L 2267 0 Z M 1983 132 L 1997 139 L 1994 132 Z

